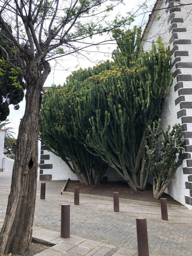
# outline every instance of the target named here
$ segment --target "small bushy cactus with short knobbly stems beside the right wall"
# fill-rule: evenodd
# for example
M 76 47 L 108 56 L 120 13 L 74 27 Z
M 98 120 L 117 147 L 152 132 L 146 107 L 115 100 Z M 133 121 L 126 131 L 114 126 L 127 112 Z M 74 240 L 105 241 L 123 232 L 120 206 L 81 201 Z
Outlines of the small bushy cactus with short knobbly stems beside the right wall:
M 145 142 L 148 156 L 147 172 L 153 177 L 153 196 L 156 199 L 160 199 L 175 176 L 177 168 L 181 166 L 184 150 L 180 124 L 175 124 L 171 132 L 169 125 L 164 132 L 160 123 L 161 119 L 157 124 L 153 122 L 152 128 L 149 127 L 149 135 Z

